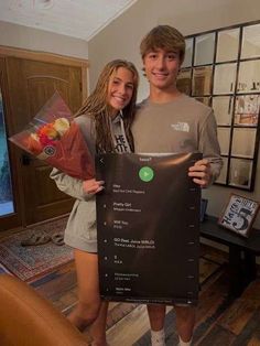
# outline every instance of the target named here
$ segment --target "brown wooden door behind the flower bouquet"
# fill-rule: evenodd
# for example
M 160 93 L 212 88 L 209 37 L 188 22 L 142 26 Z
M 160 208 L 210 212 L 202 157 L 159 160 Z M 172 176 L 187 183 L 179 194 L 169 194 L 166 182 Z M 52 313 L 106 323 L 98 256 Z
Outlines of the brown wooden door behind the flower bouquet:
M 8 57 L 10 134 L 21 131 L 57 90 L 73 112 L 82 105 L 82 69 L 54 63 Z M 13 145 L 13 144 L 12 144 Z M 15 148 L 23 226 L 68 213 L 72 198 L 48 177 L 51 167 Z

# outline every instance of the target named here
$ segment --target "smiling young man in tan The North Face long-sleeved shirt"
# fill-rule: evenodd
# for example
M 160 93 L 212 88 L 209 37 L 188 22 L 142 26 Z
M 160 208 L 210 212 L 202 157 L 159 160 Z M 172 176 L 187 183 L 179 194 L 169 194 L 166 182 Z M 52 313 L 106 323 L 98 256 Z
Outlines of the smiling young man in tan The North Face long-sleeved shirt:
M 213 110 L 176 88 L 185 40 L 176 29 L 159 25 L 142 40 L 140 51 L 150 95 L 140 104 L 132 126 L 136 152 L 199 151 L 203 159 L 188 175 L 207 187 L 220 172 L 221 158 Z M 195 307 L 175 306 L 175 312 L 180 345 L 191 345 Z M 165 305 L 148 305 L 148 313 L 152 346 L 165 345 Z

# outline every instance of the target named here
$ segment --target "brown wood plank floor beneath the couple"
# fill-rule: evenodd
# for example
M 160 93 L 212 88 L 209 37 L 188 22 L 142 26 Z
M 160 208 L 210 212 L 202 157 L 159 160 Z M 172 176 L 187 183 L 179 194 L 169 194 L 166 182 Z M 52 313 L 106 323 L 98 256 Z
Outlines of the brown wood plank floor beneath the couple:
M 260 346 L 260 280 L 251 283 L 234 300 L 228 292 L 227 255 L 203 246 L 199 304 L 194 345 Z M 74 263 L 31 283 L 34 289 L 67 314 L 77 302 Z M 177 345 L 175 315 L 167 309 L 166 345 Z M 111 303 L 107 324 L 110 346 L 150 345 L 149 322 L 144 305 Z

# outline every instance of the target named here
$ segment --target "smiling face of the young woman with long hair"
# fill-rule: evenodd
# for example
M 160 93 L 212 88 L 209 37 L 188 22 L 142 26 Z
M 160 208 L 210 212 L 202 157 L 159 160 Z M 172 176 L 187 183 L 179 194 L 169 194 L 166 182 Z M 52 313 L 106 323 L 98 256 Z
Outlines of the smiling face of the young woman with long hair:
M 108 82 L 108 104 L 115 109 L 113 113 L 130 102 L 133 88 L 133 73 L 126 67 L 116 69 Z

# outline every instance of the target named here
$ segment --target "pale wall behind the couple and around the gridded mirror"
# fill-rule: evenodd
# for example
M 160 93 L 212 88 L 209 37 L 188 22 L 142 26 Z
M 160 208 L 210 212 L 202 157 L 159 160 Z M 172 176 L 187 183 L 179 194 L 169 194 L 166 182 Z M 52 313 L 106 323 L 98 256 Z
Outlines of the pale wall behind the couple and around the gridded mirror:
M 139 0 L 126 13 L 106 26 L 88 43 L 90 88 L 102 66 L 112 58 L 132 61 L 141 74 L 139 44 L 142 36 L 158 24 L 170 24 L 184 35 L 259 20 L 259 0 Z M 139 99 L 148 95 L 148 84 L 141 79 Z M 209 199 L 208 214 L 218 216 L 230 193 L 260 201 L 260 153 L 253 193 L 212 186 L 204 191 Z M 260 227 L 260 213 L 254 223 Z

